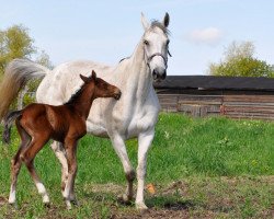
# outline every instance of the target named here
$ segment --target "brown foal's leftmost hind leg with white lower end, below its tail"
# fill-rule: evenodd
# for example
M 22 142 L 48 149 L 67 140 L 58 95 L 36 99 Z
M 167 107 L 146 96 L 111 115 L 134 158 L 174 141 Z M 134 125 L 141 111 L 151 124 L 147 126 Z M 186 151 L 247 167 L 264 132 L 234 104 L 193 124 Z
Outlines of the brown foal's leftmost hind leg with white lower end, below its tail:
M 21 137 L 21 145 L 19 147 L 19 150 L 14 158 L 11 161 L 11 191 L 10 191 L 10 196 L 9 196 L 9 203 L 10 204 L 15 204 L 16 197 L 16 183 L 18 183 L 18 175 L 22 165 L 21 161 L 21 152 L 24 150 L 24 148 L 28 145 L 31 137 L 27 135 L 27 132 L 20 126 L 19 122 L 16 120 L 16 126 L 18 126 L 18 131 Z

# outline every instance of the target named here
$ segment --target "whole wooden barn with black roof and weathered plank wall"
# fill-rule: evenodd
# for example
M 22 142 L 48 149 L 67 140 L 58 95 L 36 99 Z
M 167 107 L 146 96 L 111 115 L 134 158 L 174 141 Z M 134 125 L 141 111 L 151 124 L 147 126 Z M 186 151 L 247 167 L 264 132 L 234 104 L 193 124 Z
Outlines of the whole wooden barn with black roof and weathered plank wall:
M 274 119 L 274 79 L 169 76 L 155 83 L 163 112 Z

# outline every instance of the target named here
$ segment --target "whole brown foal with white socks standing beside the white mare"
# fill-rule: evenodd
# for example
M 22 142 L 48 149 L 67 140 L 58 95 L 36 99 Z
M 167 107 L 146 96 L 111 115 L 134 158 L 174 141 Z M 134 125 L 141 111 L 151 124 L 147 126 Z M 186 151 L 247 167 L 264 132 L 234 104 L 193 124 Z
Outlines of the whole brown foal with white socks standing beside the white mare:
M 62 142 L 67 154 L 68 180 L 62 193 L 67 208 L 71 208 L 70 201 L 77 203 L 73 191 L 77 173 L 77 141 L 87 134 L 85 120 L 92 102 L 96 97 L 114 97 L 116 100 L 121 97 L 119 89 L 96 78 L 94 71 L 89 78 L 81 74 L 80 78 L 84 82 L 83 85 L 64 105 L 53 106 L 33 103 L 5 117 L 3 140 L 10 141 L 10 129 L 14 119 L 21 137 L 20 148 L 11 163 L 10 204 L 15 204 L 16 200 L 16 181 L 22 162 L 25 163 L 38 193 L 43 196 L 43 203 L 49 203 L 46 188 L 36 174 L 33 162 L 37 152 L 50 138 Z

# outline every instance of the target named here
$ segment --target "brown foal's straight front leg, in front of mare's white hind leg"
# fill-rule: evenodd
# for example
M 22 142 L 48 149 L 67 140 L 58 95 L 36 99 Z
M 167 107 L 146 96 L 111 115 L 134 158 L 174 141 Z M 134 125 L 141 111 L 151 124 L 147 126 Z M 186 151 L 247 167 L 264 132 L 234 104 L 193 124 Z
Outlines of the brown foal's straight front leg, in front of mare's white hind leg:
M 75 178 L 77 174 L 77 140 L 68 139 L 65 141 L 66 152 L 67 152 L 67 161 L 68 161 L 68 180 L 66 183 L 64 197 L 66 200 L 66 205 L 68 209 L 71 209 L 71 200 L 77 204 L 77 199 L 75 196 Z

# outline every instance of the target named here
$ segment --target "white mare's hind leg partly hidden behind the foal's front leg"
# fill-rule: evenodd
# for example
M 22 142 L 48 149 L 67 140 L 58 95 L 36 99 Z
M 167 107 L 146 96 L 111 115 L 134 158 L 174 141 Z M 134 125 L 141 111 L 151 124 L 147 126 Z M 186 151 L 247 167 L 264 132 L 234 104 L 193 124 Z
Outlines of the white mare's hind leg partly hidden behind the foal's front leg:
M 54 141 L 50 145 L 50 147 L 61 164 L 61 193 L 64 195 L 68 180 L 68 161 L 67 161 L 66 150 L 64 148 L 64 145 L 58 141 Z

